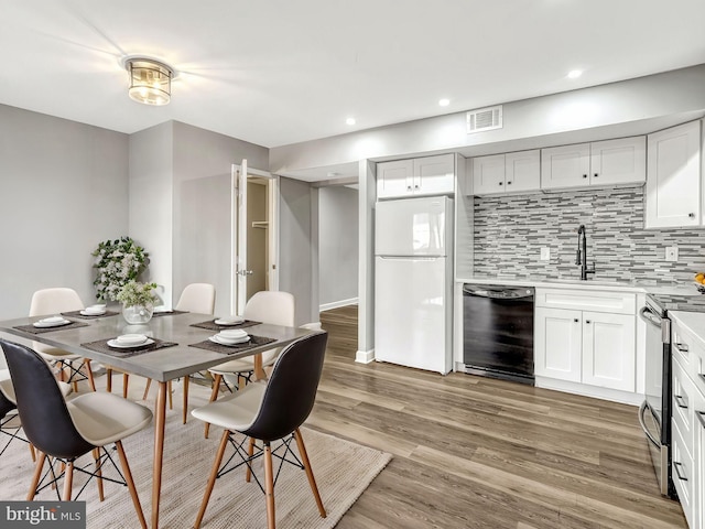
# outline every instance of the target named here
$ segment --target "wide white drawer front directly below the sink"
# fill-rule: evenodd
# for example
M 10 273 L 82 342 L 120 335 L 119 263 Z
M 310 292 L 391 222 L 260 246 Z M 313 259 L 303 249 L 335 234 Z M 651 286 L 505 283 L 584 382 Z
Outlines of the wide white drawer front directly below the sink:
M 637 295 L 629 292 L 536 289 L 536 306 L 636 314 Z

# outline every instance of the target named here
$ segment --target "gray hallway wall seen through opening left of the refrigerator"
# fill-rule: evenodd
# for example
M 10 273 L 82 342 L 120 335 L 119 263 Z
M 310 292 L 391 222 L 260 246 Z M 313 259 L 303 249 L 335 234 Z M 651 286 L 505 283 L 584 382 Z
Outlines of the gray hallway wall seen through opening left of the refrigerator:
M 357 302 L 357 190 L 328 186 L 318 190 L 318 298 L 326 305 Z

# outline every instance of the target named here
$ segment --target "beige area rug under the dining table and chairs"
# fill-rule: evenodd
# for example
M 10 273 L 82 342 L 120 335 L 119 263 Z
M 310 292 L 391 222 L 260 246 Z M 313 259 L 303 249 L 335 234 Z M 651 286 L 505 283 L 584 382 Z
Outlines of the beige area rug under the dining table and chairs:
M 193 527 L 223 433 L 220 429 L 212 427 L 210 439 L 204 439 L 203 422 L 189 418 L 184 425 L 180 417 L 181 410 L 167 412 L 160 506 L 160 527 L 165 529 Z M 305 427 L 301 431 L 327 517 L 321 518 L 318 514 L 305 472 L 293 465 L 284 465 L 274 489 L 276 527 L 332 528 L 384 468 L 391 455 Z M 153 430 L 149 428 L 128 438 L 123 445 L 149 523 Z M 226 458 L 230 453 L 231 449 L 228 449 Z M 261 458 L 256 465 L 256 474 L 263 483 Z M 0 499 L 25 499 L 32 471 L 28 445 L 14 441 L 0 457 Z M 74 490 L 78 490 L 84 481 L 77 474 Z M 106 483 L 105 493 L 106 499 L 100 503 L 96 484 L 91 482 L 79 498 L 86 500 L 88 529 L 139 527 L 127 487 Z M 56 493 L 46 489 L 36 499 L 55 500 Z M 202 527 L 267 527 L 264 495 L 253 479 L 251 483 L 245 481 L 243 468 L 216 482 Z

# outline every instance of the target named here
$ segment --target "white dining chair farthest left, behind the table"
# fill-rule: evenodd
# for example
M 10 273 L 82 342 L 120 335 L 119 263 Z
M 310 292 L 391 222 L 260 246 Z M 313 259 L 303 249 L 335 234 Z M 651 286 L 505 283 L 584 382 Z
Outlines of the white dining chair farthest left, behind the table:
M 80 301 L 80 296 L 73 289 L 67 288 L 52 288 L 37 290 L 32 294 L 32 301 L 30 302 L 30 316 L 44 316 L 61 314 L 63 312 L 82 311 L 84 303 Z M 74 391 L 78 391 L 78 381 L 88 380 L 90 388 L 95 391 L 96 384 L 93 378 L 93 370 L 90 369 L 90 359 L 82 358 L 80 355 L 68 353 L 67 350 L 52 347 L 51 345 L 33 342 L 32 347 L 36 350 L 42 358 L 44 358 L 52 367 L 58 369 L 59 380 L 64 380 L 65 370 L 68 370 L 67 382 L 73 384 Z M 80 361 L 78 368 L 74 366 L 74 363 Z M 85 374 L 82 373 L 85 370 Z

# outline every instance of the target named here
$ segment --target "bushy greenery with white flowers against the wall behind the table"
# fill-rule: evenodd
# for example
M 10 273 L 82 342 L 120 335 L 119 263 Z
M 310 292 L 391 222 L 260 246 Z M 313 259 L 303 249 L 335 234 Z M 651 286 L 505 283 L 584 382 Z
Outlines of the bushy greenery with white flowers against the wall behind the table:
M 130 281 L 137 281 L 149 262 L 149 253 L 130 237 L 105 240 L 91 253 L 97 269 L 96 298 L 101 301 L 116 301 L 118 293 Z

